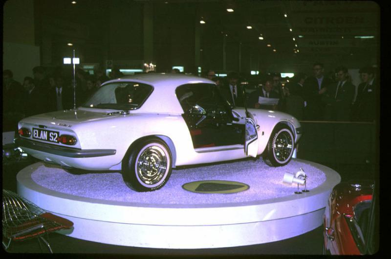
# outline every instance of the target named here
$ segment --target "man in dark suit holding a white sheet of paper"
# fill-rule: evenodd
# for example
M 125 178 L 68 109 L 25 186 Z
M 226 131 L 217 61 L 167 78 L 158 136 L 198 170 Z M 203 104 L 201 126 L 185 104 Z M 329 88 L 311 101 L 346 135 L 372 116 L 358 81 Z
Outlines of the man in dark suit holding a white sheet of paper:
M 265 105 L 259 102 L 259 97 L 279 99 L 279 94 L 273 91 L 273 78 L 267 77 L 262 82 L 262 87 L 252 92 L 248 98 L 247 107 L 255 109 L 276 110 L 276 105 Z

